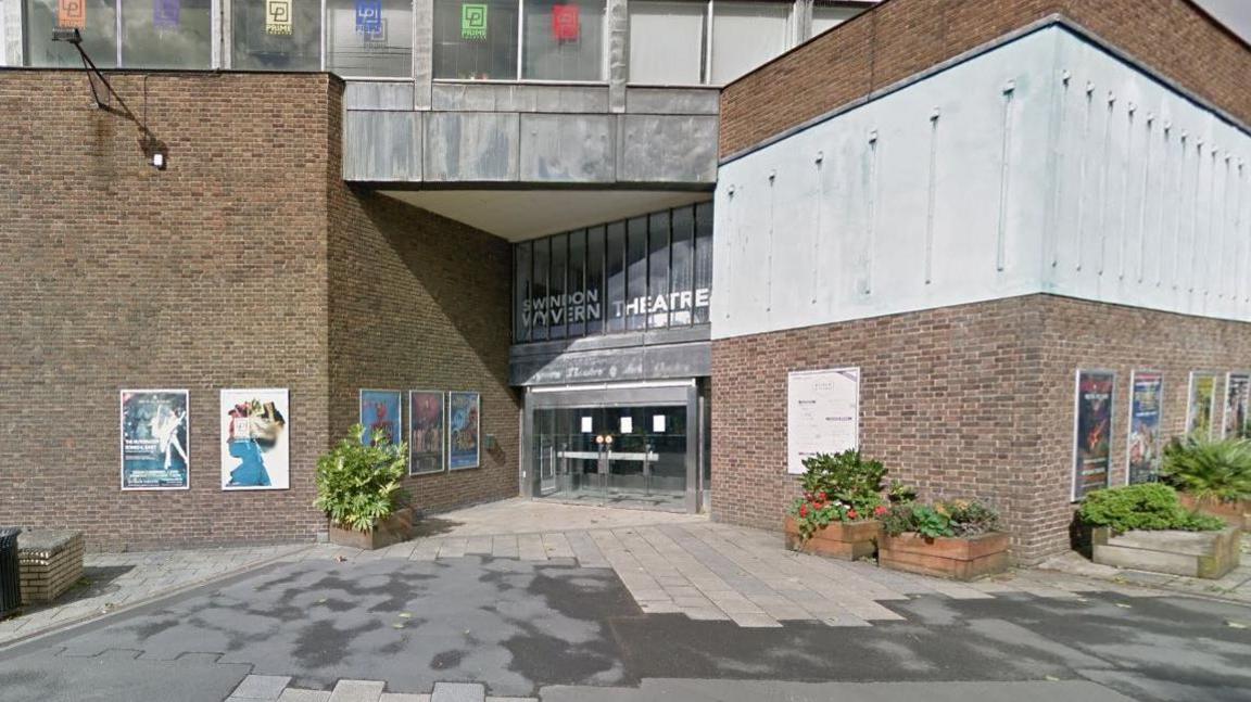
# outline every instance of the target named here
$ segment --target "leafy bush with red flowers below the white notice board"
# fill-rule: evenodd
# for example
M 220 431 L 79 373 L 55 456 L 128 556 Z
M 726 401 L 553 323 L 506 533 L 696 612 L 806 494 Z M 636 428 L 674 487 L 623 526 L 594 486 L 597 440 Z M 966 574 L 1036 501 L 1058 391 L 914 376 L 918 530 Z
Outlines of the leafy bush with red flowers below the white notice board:
M 868 520 L 884 512 L 886 467 L 881 461 L 864 460 L 859 451 L 851 450 L 818 453 L 806 458 L 803 467 L 803 497 L 797 497 L 788 512 L 804 541 L 832 522 Z

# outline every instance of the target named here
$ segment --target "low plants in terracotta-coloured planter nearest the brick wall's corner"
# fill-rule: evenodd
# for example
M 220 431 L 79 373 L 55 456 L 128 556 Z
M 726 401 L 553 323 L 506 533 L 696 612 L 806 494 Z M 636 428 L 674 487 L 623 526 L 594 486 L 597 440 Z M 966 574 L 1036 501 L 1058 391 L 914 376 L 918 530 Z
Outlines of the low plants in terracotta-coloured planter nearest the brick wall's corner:
M 976 580 L 1008 567 L 1000 516 L 976 500 L 934 505 L 899 501 L 882 517 L 878 563 L 886 568 Z

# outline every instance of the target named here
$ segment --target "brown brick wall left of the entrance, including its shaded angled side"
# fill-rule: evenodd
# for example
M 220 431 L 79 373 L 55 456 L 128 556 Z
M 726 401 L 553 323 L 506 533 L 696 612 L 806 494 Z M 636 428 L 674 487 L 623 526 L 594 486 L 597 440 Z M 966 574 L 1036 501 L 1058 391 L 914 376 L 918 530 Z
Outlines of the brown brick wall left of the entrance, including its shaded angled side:
M 350 191 L 338 79 L 109 77 L 130 116 L 96 109 L 81 71 L 0 71 L 0 522 L 80 530 L 93 550 L 311 540 L 315 461 L 357 388 L 408 382 L 480 390 L 502 446 L 418 506 L 515 495 L 508 325 L 454 321 L 508 319 L 507 244 Z M 289 388 L 290 490 L 220 490 L 231 387 Z M 120 490 L 121 388 L 190 391 L 190 490 Z

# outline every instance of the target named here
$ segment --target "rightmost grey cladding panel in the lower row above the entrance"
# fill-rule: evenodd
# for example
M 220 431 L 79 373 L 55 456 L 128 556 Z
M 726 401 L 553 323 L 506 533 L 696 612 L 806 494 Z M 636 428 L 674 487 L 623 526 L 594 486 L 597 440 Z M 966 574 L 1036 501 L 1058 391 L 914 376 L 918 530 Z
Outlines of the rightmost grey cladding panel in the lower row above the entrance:
M 717 181 L 717 117 L 622 115 L 617 180 Z

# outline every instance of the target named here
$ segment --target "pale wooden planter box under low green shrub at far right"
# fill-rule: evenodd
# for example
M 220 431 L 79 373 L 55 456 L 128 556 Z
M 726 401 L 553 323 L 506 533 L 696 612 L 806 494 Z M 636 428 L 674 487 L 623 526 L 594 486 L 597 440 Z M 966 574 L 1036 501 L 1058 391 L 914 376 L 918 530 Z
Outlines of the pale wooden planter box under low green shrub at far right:
M 1238 565 L 1237 527 L 1221 531 L 1127 531 L 1112 536 L 1108 527 L 1091 531 L 1093 561 L 1105 566 L 1177 576 L 1218 578 Z

